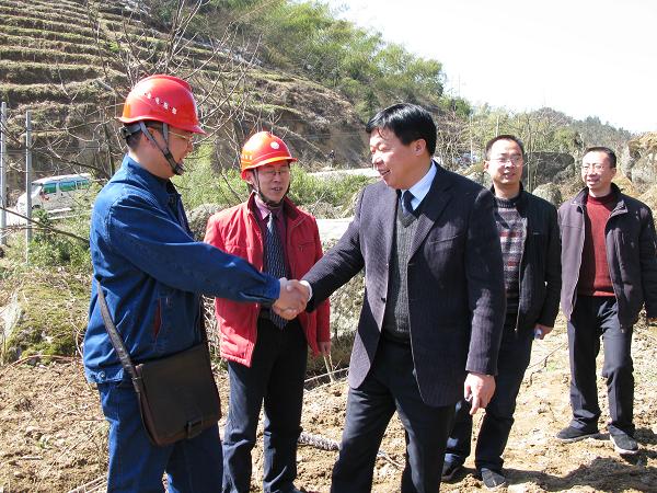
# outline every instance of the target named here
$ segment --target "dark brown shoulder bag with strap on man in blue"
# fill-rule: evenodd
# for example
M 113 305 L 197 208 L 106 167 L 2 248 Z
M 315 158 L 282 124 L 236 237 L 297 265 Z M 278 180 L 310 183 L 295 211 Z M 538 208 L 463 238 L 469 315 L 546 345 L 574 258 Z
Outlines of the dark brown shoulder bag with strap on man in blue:
M 200 312 L 203 341 L 159 359 L 132 364 L 112 321 L 101 283 L 96 280 L 101 313 L 112 345 L 137 392 L 141 421 L 153 445 L 165 446 L 194 438 L 221 417 L 219 392 Z

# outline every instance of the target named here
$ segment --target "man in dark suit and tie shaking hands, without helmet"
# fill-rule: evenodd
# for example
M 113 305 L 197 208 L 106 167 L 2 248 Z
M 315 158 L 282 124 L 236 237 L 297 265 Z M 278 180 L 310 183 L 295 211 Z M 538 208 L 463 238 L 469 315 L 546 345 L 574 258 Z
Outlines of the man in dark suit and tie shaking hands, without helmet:
M 381 181 L 302 283 L 312 310 L 365 267 L 366 294 L 332 492 L 368 492 L 396 411 L 406 431 L 402 492 L 436 492 L 456 402 L 485 408 L 505 312 L 493 195 L 431 160 L 428 112 L 396 104 L 366 126 Z

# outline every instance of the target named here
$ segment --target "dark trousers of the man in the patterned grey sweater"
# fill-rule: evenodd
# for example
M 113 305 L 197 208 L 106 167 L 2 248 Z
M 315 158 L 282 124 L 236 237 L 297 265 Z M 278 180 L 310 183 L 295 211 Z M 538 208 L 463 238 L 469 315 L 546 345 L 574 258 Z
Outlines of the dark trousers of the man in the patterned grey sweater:
M 502 471 L 504 463 L 502 454 L 514 425 L 516 399 L 531 358 L 532 341 L 532 330 L 516 332 L 512 326 L 504 328 L 497 358 L 495 393 L 486 406 L 486 414 L 476 438 L 474 465 L 477 470 L 486 468 Z M 465 400 L 457 403 L 454 425 L 447 440 L 446 462 L 462 465 L 470 455 L 472 435 L 470 409 L 471 404 Z

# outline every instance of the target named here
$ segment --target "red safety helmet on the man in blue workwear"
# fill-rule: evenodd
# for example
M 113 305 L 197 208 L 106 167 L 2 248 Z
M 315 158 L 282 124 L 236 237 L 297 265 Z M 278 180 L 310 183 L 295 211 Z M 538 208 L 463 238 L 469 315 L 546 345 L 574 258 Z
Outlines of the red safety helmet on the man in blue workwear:
M 151 119 L 205 135 L 192 88 L 173 76 L 150 76 L 137 82 L 126 98 L 123 116 L 118 119 L 124 124 Z

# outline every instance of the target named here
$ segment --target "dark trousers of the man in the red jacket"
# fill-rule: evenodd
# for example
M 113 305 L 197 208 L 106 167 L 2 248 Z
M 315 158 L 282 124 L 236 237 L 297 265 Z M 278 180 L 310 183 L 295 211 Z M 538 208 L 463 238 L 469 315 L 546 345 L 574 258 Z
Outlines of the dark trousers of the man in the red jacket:
M 263 491 L 291 492 L 297 478 L 308 346 L 297 320 L 278 329 L 260 319 L 251 367 L 229 362 L 230 401 L 223 434 L 223 492 L 245 493 L 261 408 L 265 408 Z

